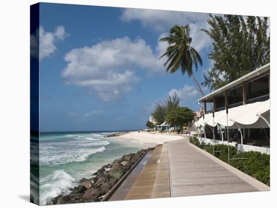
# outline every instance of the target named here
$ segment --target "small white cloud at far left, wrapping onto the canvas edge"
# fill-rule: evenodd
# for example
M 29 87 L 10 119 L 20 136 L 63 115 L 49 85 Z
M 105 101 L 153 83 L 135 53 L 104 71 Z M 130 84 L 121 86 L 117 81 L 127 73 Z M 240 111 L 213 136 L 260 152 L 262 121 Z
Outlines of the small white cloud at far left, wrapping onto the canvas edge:
M 39 54 L 39 60 L 42 60 L 54 53 L 57 50 L 56 44 L 64 40 L 66 36 L 68 36 L 68 34 L 65 32 L 63 26 L 56 27 L 54 32 L 46 32 L 44 28 L 40 26 L 38 31 L 31 35 L 31 55 L 38 57 Z

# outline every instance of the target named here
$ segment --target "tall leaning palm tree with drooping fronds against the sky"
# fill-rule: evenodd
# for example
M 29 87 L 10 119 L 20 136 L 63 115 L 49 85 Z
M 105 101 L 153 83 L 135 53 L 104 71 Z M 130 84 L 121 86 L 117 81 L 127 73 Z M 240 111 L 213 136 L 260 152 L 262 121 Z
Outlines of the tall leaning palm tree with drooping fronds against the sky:
M 170 29 L 169 36 L 161 38 L 160 41 L 168 42 L 169 44 L 166 52 L 159 58 L 160 60 L 164 56 L 168 57 L 167 61 L 164 63 L 164 66 L 167 66 L 166 72 L 169 71 L 170 73 L 174 73 L 178 69 L 181 69 L 183 75 L 187 73 L 188 77 L 192 76 L 193 81 L 197 85 L 200 93 L 204 96 L 205 94 L 195 79 L 192 70 L 193 65 L 196 71 L 198 63 L 202 66 L 202 59 L 198 52 L 190 46 L 192 39 L 189 36 L 189 25 L 173 26 Z

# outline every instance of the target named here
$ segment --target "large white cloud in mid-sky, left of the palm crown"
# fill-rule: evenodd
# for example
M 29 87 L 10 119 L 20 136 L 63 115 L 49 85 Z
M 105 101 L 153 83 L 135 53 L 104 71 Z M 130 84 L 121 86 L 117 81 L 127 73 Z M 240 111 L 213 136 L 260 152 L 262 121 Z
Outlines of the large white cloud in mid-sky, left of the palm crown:
M 67 84 L 92 87 L 102 100 L 112 101 L 135 87 L 140 80 L 135 70 L 165 71 L 163 60 L 158 60 L 165 47 L 158 43 L 153 51 L 142 38 L 123 37 L 75 48 L 64 57 L 62 76 Z

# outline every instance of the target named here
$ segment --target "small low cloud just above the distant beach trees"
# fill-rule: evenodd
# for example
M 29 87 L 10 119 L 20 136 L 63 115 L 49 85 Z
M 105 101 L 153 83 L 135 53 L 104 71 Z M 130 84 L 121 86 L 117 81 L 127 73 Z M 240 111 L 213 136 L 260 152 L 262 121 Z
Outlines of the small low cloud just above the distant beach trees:
M 192 85 L 185 84 L 183 88 L 171 89 L 168 95 L 172 96 L 174 93 L 180 97 L 180 105 L 185 105 L 187 101 L 199 96 L 199 91 Z

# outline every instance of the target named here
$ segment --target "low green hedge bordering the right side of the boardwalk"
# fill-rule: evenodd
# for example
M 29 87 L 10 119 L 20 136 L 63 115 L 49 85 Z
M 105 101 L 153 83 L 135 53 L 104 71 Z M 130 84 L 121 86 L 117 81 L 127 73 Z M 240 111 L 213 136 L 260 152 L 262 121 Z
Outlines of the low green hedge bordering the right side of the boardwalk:
M 198 139 L 190 139 L 190 143 L 198 146 Z M 203 145 L 199 148 L 203 149 Z M 205 145 L 205 151 L 213 154 L 213 146 Z M 215 145 L 215 156 L 224 162 L 228 162 L 228 147 L 227 145 Z M 230 165 L 239 169 L 240 171 L 256 178 L 266 185 L 270 185 L 270 155 L 260 153 L 258 151 L 249 151 L 244 153 L 237 153 L 235 147 L 229 145 L 230 158 L 248 158 L 240 160 L 230 160 Z

